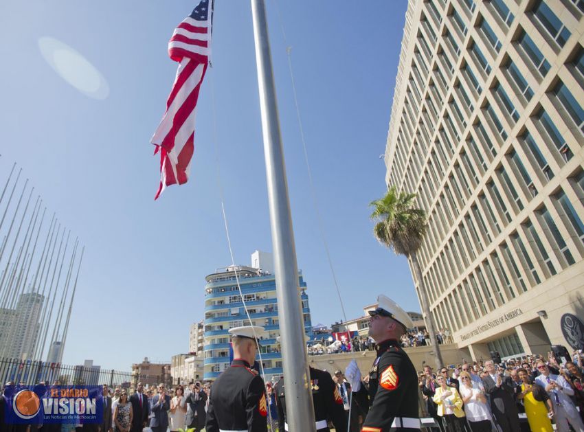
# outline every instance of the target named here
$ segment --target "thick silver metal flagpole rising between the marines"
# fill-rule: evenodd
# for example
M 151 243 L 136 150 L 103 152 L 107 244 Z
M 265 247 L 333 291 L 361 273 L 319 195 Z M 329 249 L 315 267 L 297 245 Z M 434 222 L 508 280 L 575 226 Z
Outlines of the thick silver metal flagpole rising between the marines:
M 264 0 L 251 0 L 289 431 L 316 431 Z

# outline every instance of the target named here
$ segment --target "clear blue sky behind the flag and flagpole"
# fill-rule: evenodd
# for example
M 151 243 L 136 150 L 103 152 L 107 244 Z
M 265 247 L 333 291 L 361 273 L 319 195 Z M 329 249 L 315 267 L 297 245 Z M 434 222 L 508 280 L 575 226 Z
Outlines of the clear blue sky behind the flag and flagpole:
M 205 275 L 271 251 L 249 1 L 217 0 L 213 67 L 196 120 L 188 184 L 159 201 L 149 144 L 177 65 L 166 53 L 191 1 L 6 1 L 0 5 L 0 180 L 16 161 L 86 246 L 64 363 L 128 370 L 188 350 Z M 310 8 L 308 8 L 310 5 Z M 278 3 L 292 49 L 319 210 L 349 318 L 379 293 L 419 310 L 405 258 L 372 236 L 368 203 L 385 191 L 385 149 L 406 0 Z M 342 318 L 316 223 L 276 3 L 267 2 L 298 266 L 313 323 Z M 49 67 L 44 36 L 80 52 L 109 95 L 89 98 Z M 212 99 L 216 103 L 217 150 Z

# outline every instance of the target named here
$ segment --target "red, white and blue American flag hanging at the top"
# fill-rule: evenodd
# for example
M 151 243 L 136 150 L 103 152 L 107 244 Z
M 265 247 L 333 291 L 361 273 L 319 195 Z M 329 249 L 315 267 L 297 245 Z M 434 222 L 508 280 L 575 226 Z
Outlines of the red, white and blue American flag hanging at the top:
M 188 180 L 196 101 L 211 52 L 212 10 L 212 0 L 201 0 L 168 43 L 168 55 L 179 62 L 179 69 L 166 101 L 166 113 L 150 139 L 156 146 L 154 154 L 160 152 L 160 186 L 154 199 L 166 186 Z

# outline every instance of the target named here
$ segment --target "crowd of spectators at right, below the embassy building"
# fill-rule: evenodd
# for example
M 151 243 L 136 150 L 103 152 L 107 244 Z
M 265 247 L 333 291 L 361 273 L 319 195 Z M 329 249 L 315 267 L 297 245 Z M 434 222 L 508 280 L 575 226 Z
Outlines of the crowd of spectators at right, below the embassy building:
M 583 373 L 581 350 L 565 363 L 549 352 L 442 367 L 437 374 L 425 365 L 420 416 L 436 420 L 433 431 L 551 432 L 554 424 L 559 432 L 584 432 Z

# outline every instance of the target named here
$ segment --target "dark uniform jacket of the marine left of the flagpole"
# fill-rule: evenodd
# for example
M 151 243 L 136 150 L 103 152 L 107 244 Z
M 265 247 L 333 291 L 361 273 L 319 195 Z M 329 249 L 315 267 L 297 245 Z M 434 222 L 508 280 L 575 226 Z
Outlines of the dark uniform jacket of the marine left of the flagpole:
M 234 360 L 215 380 L 209 396 L 205 431 L 268 430 L 264 380 L 249 366 L 245 360 Z

